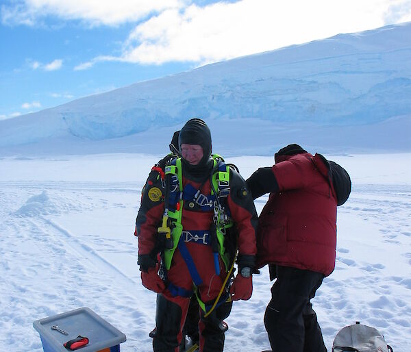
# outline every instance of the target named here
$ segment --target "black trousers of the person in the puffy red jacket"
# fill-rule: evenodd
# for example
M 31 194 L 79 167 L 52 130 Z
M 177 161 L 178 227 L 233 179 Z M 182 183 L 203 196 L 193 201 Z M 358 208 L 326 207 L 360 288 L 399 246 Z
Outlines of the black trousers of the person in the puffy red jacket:
M 326 352 L 323 334 L 310 300 L 324 275 L 286 266 L 275 268 L 264 325 L 273 352 Z

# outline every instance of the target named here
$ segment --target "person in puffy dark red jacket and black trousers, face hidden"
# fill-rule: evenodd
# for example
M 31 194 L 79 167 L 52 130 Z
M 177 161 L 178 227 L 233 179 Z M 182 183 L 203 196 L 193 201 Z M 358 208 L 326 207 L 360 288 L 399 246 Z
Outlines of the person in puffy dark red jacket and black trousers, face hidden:
M 336 260 L 337 194 L 329 162 L 298 144 L 247 179 L 253 199 L 270 193 L 257 229 L 257 268 L 269 264 L 264 325 L 275 352 L 327 351 L 310 300 Z M 350 183 L 351 190 L 351 183 Z

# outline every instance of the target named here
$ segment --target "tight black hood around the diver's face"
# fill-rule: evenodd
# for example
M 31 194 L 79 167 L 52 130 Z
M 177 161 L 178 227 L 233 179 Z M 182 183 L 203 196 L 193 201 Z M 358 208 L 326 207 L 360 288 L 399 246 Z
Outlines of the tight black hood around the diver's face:
M 179 133 L 178 147 L 181 153 L 182 144 L 199 144 L 203 148 L 203 159 L 200 164 L 207 162 L 211 155 L 211 132 L 206 123 L 200 118 L 192 118 Z

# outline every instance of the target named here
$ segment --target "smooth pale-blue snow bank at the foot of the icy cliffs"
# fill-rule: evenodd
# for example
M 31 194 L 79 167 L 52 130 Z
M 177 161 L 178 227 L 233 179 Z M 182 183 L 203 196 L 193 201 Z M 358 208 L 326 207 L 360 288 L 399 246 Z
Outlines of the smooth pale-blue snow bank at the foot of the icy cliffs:
M 212 131 L 215 153 L 236 155 L 274 155 L 290 143 L 299 143 L 315 153 L 398 153 L 411 150 L 411 115 L 390 118 L 381 123 L 359 126 L 325 126 L 315 124 L 278 125 L 255 118 L 206 119 Z M 153 127 L 145 132 L 110 140 L 87 140 L 74 136 L 54 136 L 34 144 L 0 147 L 1 156 L 83 155 L 99 153 L 169 153 L 173 132 L 183 123 L 171 127 Z

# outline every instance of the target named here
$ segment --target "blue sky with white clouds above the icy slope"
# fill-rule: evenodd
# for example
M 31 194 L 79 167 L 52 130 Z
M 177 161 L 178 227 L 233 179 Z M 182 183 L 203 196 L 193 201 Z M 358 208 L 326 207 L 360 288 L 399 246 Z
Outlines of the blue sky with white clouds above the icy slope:
M 0 119 L 411 21 L 411 0 L 0 0 Z

